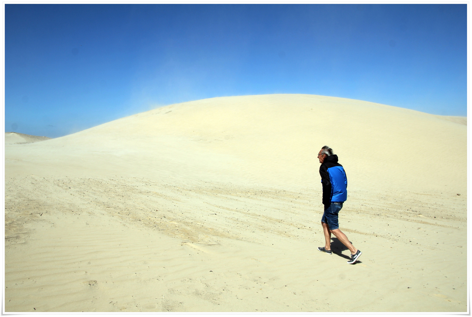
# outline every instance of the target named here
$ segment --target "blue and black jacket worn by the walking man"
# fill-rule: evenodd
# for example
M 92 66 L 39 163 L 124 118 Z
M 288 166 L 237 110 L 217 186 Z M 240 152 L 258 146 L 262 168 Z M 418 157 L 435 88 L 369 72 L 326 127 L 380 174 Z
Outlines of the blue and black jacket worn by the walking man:
M 346 172 L 337 162 L 337 155 L 327 156 L 320 166 L 321 184 L 323 185 L 323 205 L 329 207 L 331 201 L 344 202 L 347 199 Z

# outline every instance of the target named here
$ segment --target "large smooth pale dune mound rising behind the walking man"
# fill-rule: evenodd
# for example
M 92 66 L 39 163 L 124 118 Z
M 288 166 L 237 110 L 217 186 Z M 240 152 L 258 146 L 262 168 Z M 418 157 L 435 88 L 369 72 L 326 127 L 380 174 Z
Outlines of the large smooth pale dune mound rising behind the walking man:
M 44 151 L 46 161 L 60 149 L 54 159 L 102 172 L 111 155 L 126 175 L 224 175 L 244 184 L 306 188 L 319 183 L 316 154 L 329 145 L 351 189 L 465 193 L 467 128 L 451 120 L 315 95 L 219 97 L 121 118 L 32 149 Z M 454 155 L 441 154 L 446 148 Z M 75 159 L 78 151 L 94 163 Z

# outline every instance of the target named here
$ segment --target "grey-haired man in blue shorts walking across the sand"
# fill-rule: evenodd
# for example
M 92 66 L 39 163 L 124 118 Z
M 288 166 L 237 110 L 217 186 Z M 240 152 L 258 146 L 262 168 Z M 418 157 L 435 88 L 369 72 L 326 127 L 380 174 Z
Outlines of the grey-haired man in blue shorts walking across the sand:
M 333 150 L 325 145 L 318 153 L 320 160 L 321 184 L 323 186 L 323 205 L 324 213 L 321 218 L 321 225 L 325 236 L 325 246 L 318 248 L 321 252 L 332 254 L 331 252 L 331 234 L 334 234 L 349 251 L 351 251 L 351 259 L 347 261 L 354 264 L 361 256 L 362 252 L 357 250 L 351 242 L 339 230 L 337 216 L 339 210 L 343 208 L 343 203 L 347 199 L 347 178 L 346 172 L 341 164 L 337 162 L 337 155 L 333 154 Z

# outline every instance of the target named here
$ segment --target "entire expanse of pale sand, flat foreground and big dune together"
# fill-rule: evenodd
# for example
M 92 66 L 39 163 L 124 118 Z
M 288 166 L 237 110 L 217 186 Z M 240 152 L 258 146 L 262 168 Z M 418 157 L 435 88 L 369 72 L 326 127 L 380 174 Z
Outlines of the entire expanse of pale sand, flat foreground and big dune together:
M 326 144 L 355 265 L 316 250 Z M 464 118 L 312 95 L 6 144 L 4 310 L 464 312 L 466 171 Z

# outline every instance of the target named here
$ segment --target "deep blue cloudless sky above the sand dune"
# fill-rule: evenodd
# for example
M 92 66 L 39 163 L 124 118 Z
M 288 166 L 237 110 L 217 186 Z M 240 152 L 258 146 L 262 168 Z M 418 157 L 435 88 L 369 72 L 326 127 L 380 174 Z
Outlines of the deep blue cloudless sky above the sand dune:
M 467 7 L 5 5 L 5 131 L 269 93 L 466 116 Z

